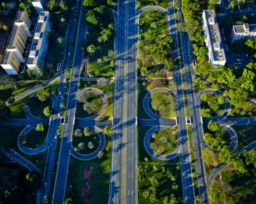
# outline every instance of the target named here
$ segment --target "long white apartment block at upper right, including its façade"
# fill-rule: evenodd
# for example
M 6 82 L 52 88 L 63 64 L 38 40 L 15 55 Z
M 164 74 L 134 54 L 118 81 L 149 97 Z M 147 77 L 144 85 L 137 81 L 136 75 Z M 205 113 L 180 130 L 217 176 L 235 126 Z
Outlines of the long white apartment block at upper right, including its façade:
M 213 66 L 225 65 L 226 56 L 215 10 L 204 10 L 202 23 L 209 63 Z

